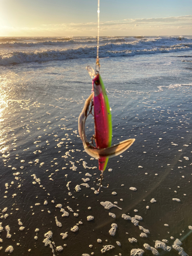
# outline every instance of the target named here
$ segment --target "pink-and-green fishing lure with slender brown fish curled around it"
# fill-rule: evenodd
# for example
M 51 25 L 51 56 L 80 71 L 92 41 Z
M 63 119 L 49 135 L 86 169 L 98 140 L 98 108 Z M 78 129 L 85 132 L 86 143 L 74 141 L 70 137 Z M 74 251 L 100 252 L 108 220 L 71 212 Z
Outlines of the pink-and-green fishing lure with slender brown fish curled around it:
M 135 139 L 127 139 L 119 144 L 111 146 L 112 143 L 112 116 L 108 96 L 106 95 L 105 87 L 99 73 L 90 66 L 87 70 L 92 77 L 93 92 L 84 103 L 82 112 L 79 115 L 78 130 L 82 140 L 84 150 L 92 157 L 99 161 L 99 170 L 104 172 L 108 159 L 110 157 L 122 154 L 129 148 Z M 90 144 L 85 133 L 85 123 L 89 115 L 89 106 L 92 103 L 94 106 L 94 121 L 95 135 L 94 139 L 96 146 Z

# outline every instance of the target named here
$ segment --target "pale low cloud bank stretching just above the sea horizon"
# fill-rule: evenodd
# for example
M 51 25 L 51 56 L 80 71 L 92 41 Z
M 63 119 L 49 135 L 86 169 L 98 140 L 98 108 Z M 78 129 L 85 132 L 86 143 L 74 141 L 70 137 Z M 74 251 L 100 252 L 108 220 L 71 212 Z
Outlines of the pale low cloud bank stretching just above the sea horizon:
M 180 33 L 191 34 L 192 15 L 178 16 L 178 17 L 159 17 L 159 18 L 137 18 L 137 19 L 123 19 L 123 20 L 107 20 L 100 22 L 100 31 L 103 35 L 131 35 L 133 31 L 135 34 L 147 35 L 152 33 L 157 35 L 158 31 L 179 30 Z M 66 23 L 66 24 L 42 24 L 38 27 L 1 27 L 0 31 L 9 31 L 14 33 L 14 36 L 20 34 L 27 34 L 35 36 L 53 36 L 53 35 L 96 35 L 97 22 L 91 23 Z M 188 31 L 188 32 L 187 32 Z M 20 34 L 19 34 L 20 33 Z M 170 33 L 170 32 L 167 32 Z M 17 35 L 18 34 L 18 35 Z M 165 35 L 165 34 L 164 34 Z M 6 36 L 6 35 L 5 35 Z

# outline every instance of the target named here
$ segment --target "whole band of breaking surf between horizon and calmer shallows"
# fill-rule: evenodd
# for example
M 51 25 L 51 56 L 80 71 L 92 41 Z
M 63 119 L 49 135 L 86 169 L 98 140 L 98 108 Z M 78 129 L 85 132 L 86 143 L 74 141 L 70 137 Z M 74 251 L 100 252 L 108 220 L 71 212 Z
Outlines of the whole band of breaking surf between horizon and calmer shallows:
M 96 42 L 96 37 L 0 37 L 0 65 L 95 58 Z M 192 36 L 102 36 L 99 55 L 101 58 L 129 57 L 191 49 Z

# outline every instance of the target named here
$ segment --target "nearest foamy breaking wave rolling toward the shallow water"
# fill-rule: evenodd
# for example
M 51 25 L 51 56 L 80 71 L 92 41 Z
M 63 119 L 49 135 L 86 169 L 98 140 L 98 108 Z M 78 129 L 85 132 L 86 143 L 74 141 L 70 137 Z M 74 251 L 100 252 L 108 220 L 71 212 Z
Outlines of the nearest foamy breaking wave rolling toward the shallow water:
M 187 51 L 191 49 L 184 44 L 173 46 L 154 46 L 144 45 L 140 41 L 131 43 L 104 44 L 99 48 L 100 57 L 120 57 L 134 56 L 139 54 L 156 54 L 165 52 Z M 51 60 L 67 60 L 76 58 L 95 58 L 96 46 L 80 46 L 72 49 L 56 49 L 56 50 L 34 50 L 34 51 L 13 51 L 7 52 L 0 56 L 0 65 L 10 65 L 14 63 L 33 62 L 33 61 L 51 61 Z

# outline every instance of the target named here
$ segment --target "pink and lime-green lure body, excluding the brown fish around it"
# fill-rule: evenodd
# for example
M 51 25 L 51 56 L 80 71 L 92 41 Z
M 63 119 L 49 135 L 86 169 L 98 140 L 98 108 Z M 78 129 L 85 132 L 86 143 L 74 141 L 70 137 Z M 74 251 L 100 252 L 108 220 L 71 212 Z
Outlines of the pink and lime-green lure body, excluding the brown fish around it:
M 97 148 L 110 147 L 112 142 L 112 116 L 108 96 L 99 74 L 93 79 L 92 85 L 96 146 Z M 108 163 L 108 157 L 101 157 L 98 161 L 99 170 L 104 171 Z

